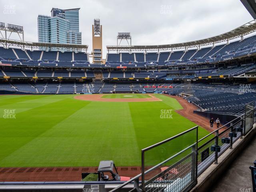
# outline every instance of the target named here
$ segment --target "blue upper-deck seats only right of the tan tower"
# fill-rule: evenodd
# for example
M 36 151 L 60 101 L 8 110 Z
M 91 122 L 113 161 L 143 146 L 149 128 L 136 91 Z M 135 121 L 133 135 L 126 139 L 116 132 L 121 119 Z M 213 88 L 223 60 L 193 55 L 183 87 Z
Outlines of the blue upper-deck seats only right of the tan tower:
M 220 60 L 224 60 L 226 58 L 236 58 L 239 56 L 244 56 L 248 54 L 256 53 L 256 35 L 245 38 L 244 40 L 236 40 L 234 42 L 230 42 L 229 44 L 218 44 L 210 47 L 203 47 L 200 50 L 190 49 L 184 52 L 184 50 L 174 50 L 170 55 L 169 52 L 161 52 L 158 59 L 158 53 L 150 52 L 146 54 L 146 62 L 147 66 L 151 65 L 173 65 L 179 64 L 180 62 L 184 64 L 187 62 L 188 64 L 194 64 L 196 62 L 218 62 Z M 124 59 L 122 57 L 122 61 L 128 60 L 126 55 L 130 55 L 128 53 L 125 55 Z M 137 66 L 144 66 L 144 54 L 136 53 L 136 62 Z M 168 59 L 170 55 L 170 58 Z M 116 60 L 119 61 L 120 54 L 108 54 L 108 63 L 114 63 Z M 118 58 L 118 59 L 117 59 Z M 168 61 L 167 61 L 168 59 Z

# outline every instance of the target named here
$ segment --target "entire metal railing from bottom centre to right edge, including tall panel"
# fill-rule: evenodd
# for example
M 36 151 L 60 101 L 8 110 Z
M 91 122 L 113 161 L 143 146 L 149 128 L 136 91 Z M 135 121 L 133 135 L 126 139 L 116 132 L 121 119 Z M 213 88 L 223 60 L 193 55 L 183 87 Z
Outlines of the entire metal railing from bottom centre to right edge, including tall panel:
M 250 102 L 246 104 L 244 114 L 214 130 L 200 140 L 198 140 L 198 126 L 196 126 L 167 140 L 142 149 L 142 173 L 110 192 L 122 191 L 125 186 L 132 183 L 134 187 L 130 192 L 189 191 L 197 184 L 198 176 L 212 163 L 217 164 L 218 158 L 226 150 L 232 148 L 234 142 L 242 138 L 253 128 L 253 124 L 256 123 L 255 117 L 256 107 L 254 107 L 254 102 Z M 149 166 L 150 168 L 145 170 L 148 166 L 146 166 L 147 156 L 145 156 L 147 152 L 159 146 L 163 147 L 168 143 L 169 145 L 165 146 L 165 148 L 172 148 L 174 145 L 173 143 L 170 144 L 170 142 L 191 133 L 193 130 L 196 130 L 196 140 L 192 144 L 185 146 L 175 154 L 168 154 L 168 150 L 164 151 L 164 160 L 161 160 L 163 157 L 158 156 L 160 162 L 154 166 Z M 150 160 L 149 162 L 151 164 L 156 162 L 153 162 L 152 159 Z M 148 178 L 146 178 L 147 175 Z M 139 182 L 140 178 L 141 185 Z

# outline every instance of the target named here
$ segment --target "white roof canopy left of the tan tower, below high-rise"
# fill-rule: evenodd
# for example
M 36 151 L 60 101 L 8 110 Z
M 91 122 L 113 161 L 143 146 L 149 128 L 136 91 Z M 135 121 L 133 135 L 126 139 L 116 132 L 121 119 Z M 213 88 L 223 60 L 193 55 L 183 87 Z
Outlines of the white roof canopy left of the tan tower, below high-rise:
M 85 50 L 87 52 L 88 45 L 80 45 L 80 44 L 54 44 L 54 43 L 37 43 L 37 42 L 25 42 L 20 40 L 10 40 L 5 38 L 0 38 L 0 44 L 2 44 L 5 48 L 9 48 L 9 46 L 21 47 L 21 48 L 30 48 L 33 50 L 34 48 L 72 48 L 77 50 Z

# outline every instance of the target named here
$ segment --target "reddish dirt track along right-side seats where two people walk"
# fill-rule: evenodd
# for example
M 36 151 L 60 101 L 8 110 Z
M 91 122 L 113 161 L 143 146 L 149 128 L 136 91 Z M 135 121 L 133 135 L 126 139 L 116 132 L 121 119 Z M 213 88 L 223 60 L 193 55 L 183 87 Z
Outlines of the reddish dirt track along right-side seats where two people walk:
M 209 132 L 212 132 L 217 129 L 216 123 L 214 123 L 214 126 L 211 129 L 210 128 L 210 119 L 194 113 L 194 110 L 198 109 L 198 107 L 195 106 L 194 104 L 189 103 L 187 100 L 185 100 L 181 97 L 178 97 L 178 96 L 171 96 L 171 95 L 166 95 L 166 96 L 175 98 L 180 103 L 180 105 L 183 107 L 183 109 L 181 109 L 181 110 L 176 110 L 176 112 L 178 114 L 186 117 L 190 121 L 194 122 L 195 124 L 199 125 L 200 127 L 204 128 L 204 129 L 208 130 Z M 220 126 L 222 126 L 222 125 L 220 124 Z M 219 133 L 224 130 L 225 130 L 225 128 L 220 129 Z

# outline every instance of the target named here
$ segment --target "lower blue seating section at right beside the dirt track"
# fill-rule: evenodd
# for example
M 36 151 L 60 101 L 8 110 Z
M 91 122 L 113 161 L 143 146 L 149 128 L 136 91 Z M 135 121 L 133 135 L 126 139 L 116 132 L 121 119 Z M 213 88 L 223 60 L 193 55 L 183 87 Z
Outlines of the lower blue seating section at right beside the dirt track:
M 249 87 L 250 91 L 248 89 L 243 91 L 240 84 L 195 83 L 182 86 L 179 84 L 169 89 L 167 93 L 175 95 L 183 92 L 192 95 L 188 100 L 202 108 L 204 112 L 240 115 L 244 113 L 245 104 L 256 101 L 256 84 L 250 84 Z M 226 91 L 224 92 L 223 89 Z

